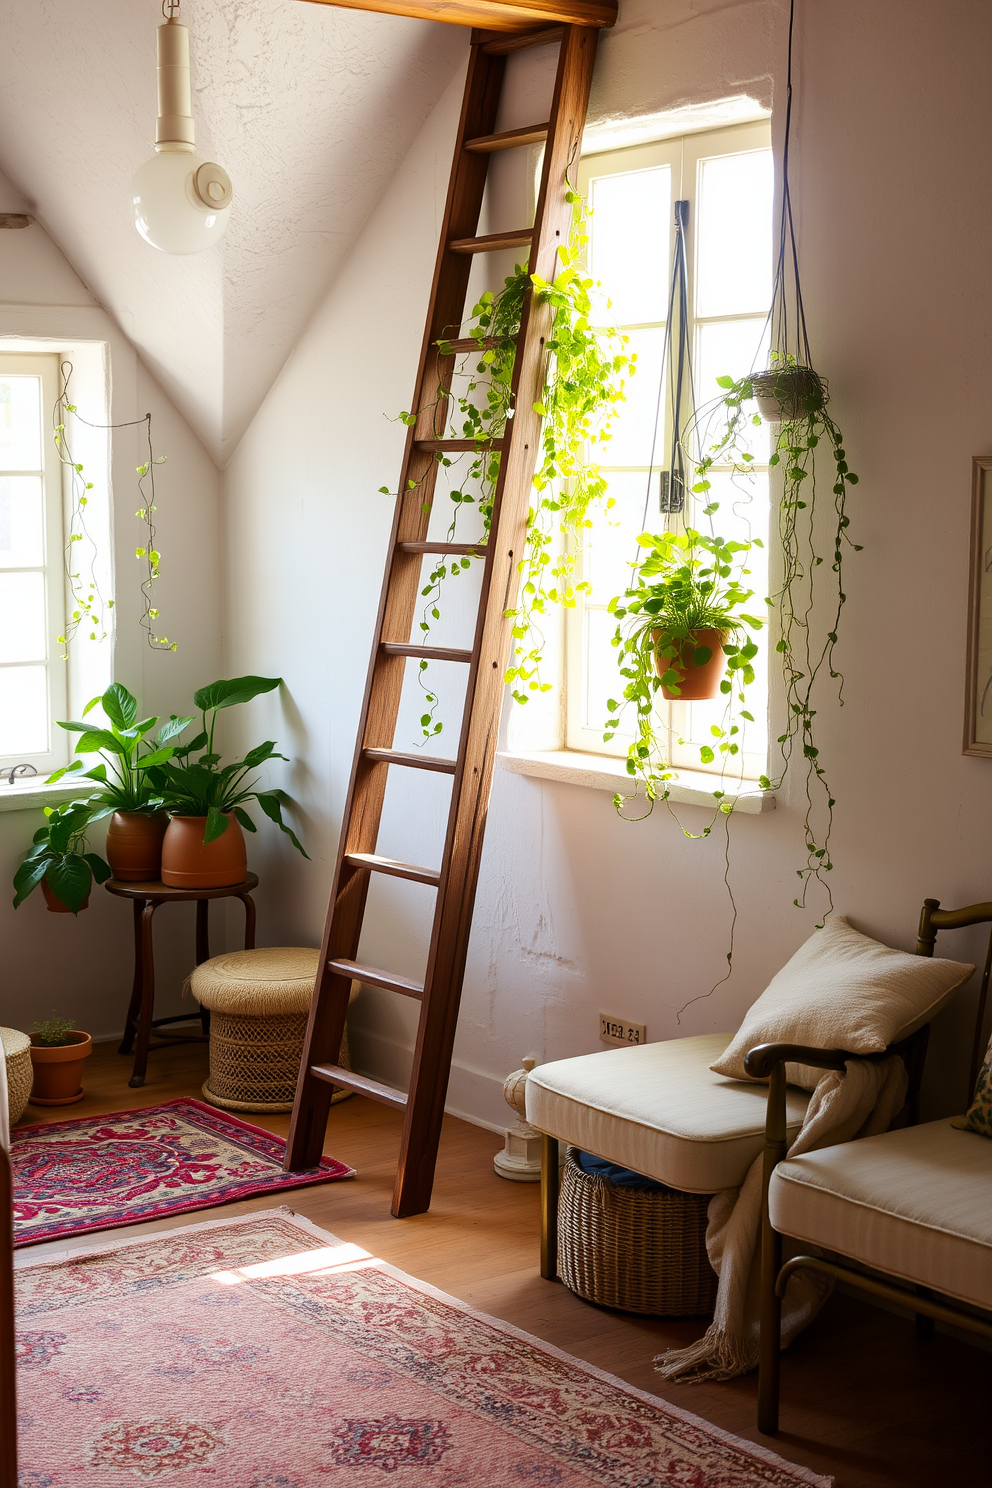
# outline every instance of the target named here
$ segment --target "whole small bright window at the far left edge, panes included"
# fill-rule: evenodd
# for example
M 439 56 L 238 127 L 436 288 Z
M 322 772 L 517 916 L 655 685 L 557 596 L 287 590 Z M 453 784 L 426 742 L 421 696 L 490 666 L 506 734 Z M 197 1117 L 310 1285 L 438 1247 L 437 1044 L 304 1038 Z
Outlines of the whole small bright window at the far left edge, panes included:
M 0 768 L 39 772 L 67 756 L 57 385 L 57 356 L 0 354 Z

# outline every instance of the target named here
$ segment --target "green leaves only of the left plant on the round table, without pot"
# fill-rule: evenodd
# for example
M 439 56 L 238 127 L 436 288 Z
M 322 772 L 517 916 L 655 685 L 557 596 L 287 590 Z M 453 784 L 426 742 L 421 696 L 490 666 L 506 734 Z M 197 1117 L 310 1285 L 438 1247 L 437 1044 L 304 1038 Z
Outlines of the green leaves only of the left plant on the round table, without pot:
M 173 741 L 189 728 L 192 717 L 167 719 L 155 740 L 150 740 L 159 720 L 138 719 L 137 698 L 122 683 L 115 682 L 101 696 L 91 698 L 83 708 L 83 719 L 97 705 L 103 708 L 109 728 L 73 719 L 59 720 L 58 726 L 80 735 L 76 740 L 76 754 L 100 754 L 100 763 L 85 769 L 83 760 L 74 759 L 49 775 L 49 784 L 65 775 L 94 781 L 100 789 L 89 798 L 94 808 L 91 821 L 112 811 L 153 815 L 165 805 L 162 766 L 175 754 L 177 745 Z

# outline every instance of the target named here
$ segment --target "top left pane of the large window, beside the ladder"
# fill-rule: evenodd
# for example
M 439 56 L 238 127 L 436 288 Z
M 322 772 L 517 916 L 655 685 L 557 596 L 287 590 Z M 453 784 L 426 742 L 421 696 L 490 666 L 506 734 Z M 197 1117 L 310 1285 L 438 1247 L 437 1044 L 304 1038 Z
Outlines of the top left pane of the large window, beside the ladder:
M 590 187 L 595 216 L 592 275 L 613 301 L 622 324 L 668 315 L 668 254 L 672 231 L 672 171 L 599 176 Z

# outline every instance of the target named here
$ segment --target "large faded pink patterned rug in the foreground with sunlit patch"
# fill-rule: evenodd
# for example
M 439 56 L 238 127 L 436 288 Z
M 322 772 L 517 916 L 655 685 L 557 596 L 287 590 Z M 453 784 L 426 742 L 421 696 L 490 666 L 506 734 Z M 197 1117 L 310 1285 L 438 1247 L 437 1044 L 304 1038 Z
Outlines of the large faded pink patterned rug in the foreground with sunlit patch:
M 819 1478 L 289 1210 L 18 1259 L 22 1488 L 794 1488 Z

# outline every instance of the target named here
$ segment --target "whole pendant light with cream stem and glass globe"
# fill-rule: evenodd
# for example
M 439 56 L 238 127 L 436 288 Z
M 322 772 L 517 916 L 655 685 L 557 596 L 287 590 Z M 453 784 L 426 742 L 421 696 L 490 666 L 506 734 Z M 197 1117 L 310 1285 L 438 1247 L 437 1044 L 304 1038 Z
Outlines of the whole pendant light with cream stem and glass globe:
M 233 189 L 226 170 L 193 149 L 189 31 L 180 21 L 180 0 L 162 0 L 162 15 L 155 155 L 131 182 L 134 225 L 162 253 L 199 253 L 223 237 Z

